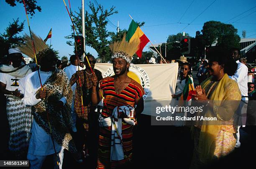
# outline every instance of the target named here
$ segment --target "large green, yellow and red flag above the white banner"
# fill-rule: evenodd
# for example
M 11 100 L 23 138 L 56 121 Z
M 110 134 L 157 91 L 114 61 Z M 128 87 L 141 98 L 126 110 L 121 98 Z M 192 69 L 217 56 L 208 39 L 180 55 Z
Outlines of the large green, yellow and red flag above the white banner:
M 146 35 L 142 32 L 141 28 L 138 27 L 137 23 L 134 22 L 134 20 L 131 21 L 127 35 L 126 35 L 126 41 L 132 42 L 133 40 L 138 39 L 140 40 L 139 48 L 136 52 L 138 57 L 141 58 L 142 56 L 142 50 L 149 42 L 149 39 L 146 37 Z

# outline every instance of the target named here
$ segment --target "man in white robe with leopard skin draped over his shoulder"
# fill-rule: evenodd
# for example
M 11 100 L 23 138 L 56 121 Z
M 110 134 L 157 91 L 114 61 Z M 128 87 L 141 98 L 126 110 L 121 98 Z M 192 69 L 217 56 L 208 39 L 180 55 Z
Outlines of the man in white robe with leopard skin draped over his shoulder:
M 56 72 L 60 72 L 60 74 L 61 74 L 61 72 L 63 72 L 63 71 L 59 70 L 59 69 L 56 70 L 55 66 L 56 66 L 57 58 L 52 50 L 50 50 L 50 49 L 46 49 L 45 51 L 43 50 L 41 55 L 42 55 L 41 59 L 40 59 L 40 57 L 38 57 L 38 60 L 40 61 L 40 66 L 41 66 L 40 70 L 39 70 L 39 74 L 41 77 L 42 85 L 44 87 L 44 85 L 46 85 L 46 82 L 49 82 L 49 80 L 53 78 L 52 77 L 53 73 L 55 73 L 54 75 L 56 75 L 56 77 L 54 77 L 54 78 L 58 78 L 58 74 L 56 74 Z M 64 72 L 61 75 L 66 76 L 66 74 Z M 61 77 L 59 77 L 59 78 L 61 78 Z M 64 78 L 67 78 L 67 77 L 64 77 Z M 66 85 L 69 85 L 69 84 L 66 84 Z M 59 86 L 55 86 L 55 87 L 58 88 Z M 28 106 L 33 106 L 33 114 L 34 114 L 32 130 L 31 130 L 32 136 L 31 136 L 31 140 L 30 140 L 30 144 L 29 144 L 27 158 L 31 163 L 31 169 L 38 169 L 38 168 L 42 167 L 43 162 L 46 159 L 46 156 L 54 154 L 55 152 L 60 152 L 62 150 L 61 153 L 59 154 L 59 157 L 60 157 L 59 167 L 61 168 L 61 165 L 63 162 L 64 148 L 69 149 L 70 151 L 72 151 L 73 154 L 75 154 L 77 150 L 76 150 L 74 144 L 72 144 L 72 142 L 71 143 L 69 142 L 69 141 L 72 141 L 72 137 L 68 131 L 64 131 L 64 135 L 65 136 L 68 135 L 67 136 L 68 138 L 62 137 L 63 142 L 64 142 L 64 139 L 67 139 L 66 144 L 64 142 L 63 145 L 61 145 L 62 144 L 61 140 L 59 140 L 58 139 L 59 137 L 56 136 L 56 133 L 63 134 L 63 131 L 61 131 L 61 132 L 57 131 L 57 128 L 54 127 L 54 123 L 52 120 L 55 120 L 55 121 L 62 120 L 61 124 L 64 124 L 65 125 L 64 129 L 66 129 L 67 125 L 64 123 L 64 120 L 63 120 L 65 118 L 64 114 L 63 114 L 63 116 L 62 116 L 62 114 L 60 114 L 61 116 L 56 117 L 59 119 L 53 119 L 54 116 L 51 115 L 51 112 L 49 112 L 49 111 L 51 110 L 50 109 L 51 105 L 54 105 L 54 111 L 64 109 L 64 106 L 68 104 L 67 103 L 68 100 L 67 100 L 67 97 L 64 97 L 64 96 L 61 97 L 59 100 L 50 100 L 50 98 L 49 98 L 49 96 L 47 96 L 47 94 L 49 95 L 51 93 L 51 91 L 48 89 L 46 92 L 46 90 L 39 90 L 40 88 L 41 88 L 41 84 L 40 84 L 38 72 L 36 71 L 36 72 L 31 73 L 26 78 L 25 93 L 24 93 L 24 98 L 23 98 L 24 104 L 26 104 Z M 45 88 L 46 87 L 44 87 L 44 89 Z M 54 90 L 54 89 L 52 89 L 52 90 Z M 70 89 L 70 92 L 72 94 L 71 89 Z M 47 98 L 47 101 L 45 100 L 45 98 Z M 71 102 L 71 99 L 69 98 L 69 102 Z M 39 116 L 39 120 L 38 120 L 38 114 L 35 114 L 36 113 L 35 110 L 38 111 L 38 108 L 35 108 L 35 107 L 36 106 L 38 107 L 39 104 L 46 105 L 46 107 L 47 107 L 46 109 L 50 116 L 49 123 L 51 123 L 51 127 L 47 126 L 47 124 L 45 124 L 45 120 L 44 119 L 41 120 L 40 116 Z M 54 112 L 54 114 L 55 114 L 55 112 Z M 67 114 L 67 116 L 68 115 L 69 114 Z M 37 117 L 37 119 L 35 117 Z M 42 124 L 42 121 L 44 121 L 43 124 Z M 38 122 L 40 122 L 40 124 Z M 53 133 L 51 135 L 49 134 L 49 130 L 53 131 Z M 69 143 L 73 147 L 67 147 L 67 144 L 69 144 Z M 55 147 L 55 149 L 54 149 L 54 147 Z M 80 160 L 80 161 L 82 161 L 82 160 Z

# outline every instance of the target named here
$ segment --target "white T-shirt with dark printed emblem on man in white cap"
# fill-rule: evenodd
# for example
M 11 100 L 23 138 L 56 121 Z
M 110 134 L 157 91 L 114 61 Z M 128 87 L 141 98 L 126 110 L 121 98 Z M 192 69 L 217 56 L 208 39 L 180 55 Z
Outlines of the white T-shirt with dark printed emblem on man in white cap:
M 12 67 L 12 65 L 10 65 L 10 67 Z M 29 75 L 31 72 L 31 70 L 28 70 L 27 75 Z M 14 91 L 18 89 L 18 91 L 20 91 L 21 94 L 24 94 L 26 76 L 14 77 L 9 75 L 8 73 L 0 73 L 0 82 L 6 85 L 6 90 Z

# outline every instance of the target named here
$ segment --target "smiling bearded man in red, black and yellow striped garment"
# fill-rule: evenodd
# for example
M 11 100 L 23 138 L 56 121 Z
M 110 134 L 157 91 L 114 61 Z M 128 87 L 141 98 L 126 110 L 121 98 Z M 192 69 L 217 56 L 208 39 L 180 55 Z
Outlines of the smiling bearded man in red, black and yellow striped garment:
M 111 77 L 105 77 L 104 79 L 100 80 L 99 91 L 96 91 L 96 86 L 98 84 L 96 75 L 91 78 L 93 82 L 92 103 L 98 104 L 103 97 L 104 107 L 100 117 L 102 119 L 101 122 L 108 123 L 106 125 L 103 124 L 103 126 L 100 125 L 101 127 L 97 160 L 98 169 L 115 168 L 125 164 L 131 159 L 133 152 L 133 126 L 136 124 L 136 114 L 140 114 L 144 108 L 142 98 L 144 90 L 142 86 L 127 75 L 131 63 L 131 54 L 128 55 L 128 53 L 120 50 L 113 52 L 112 62 L 115 75 Z M 97 97 L 97 94 L 100 98 Z M 123 106 L 127 108 L 136 107 L 135 111 L 132 112 L 133 115 L 130 116 L 130 114 L 123 112 L 120 113 L 120 111 L 122 111 L 120 110 L 120 107 Z M 119 109 L 117 112 L 117 119 L 113 117 L 116 107 Z M 129 108 L 126 110 L 130 111 L 131 109 Z M 115 124 L 117 124 L 116 121 L 118 120 L 121 120 L 119 121 L 119 127 L 121 128 L 119 130 L 121 131 L 120 133 L 116 132 L 118 131 L 118 127 L 116 127 Z M 113 128 L 113 125 L 115 128 Z M 111 133 L 113 135 L 113 129 L 115 130 L 114 132 L 118 133 L 118 137 L 115 137 L 114 140 L 118 138 L 118 143 L 122 146 L 122 150 L 119 154 L 117 153 L 118 151 L 115 152 L 113 150 L 115 149 L 115 144 L 118 144 L 113 141 L 113 139 L 111 139 Z

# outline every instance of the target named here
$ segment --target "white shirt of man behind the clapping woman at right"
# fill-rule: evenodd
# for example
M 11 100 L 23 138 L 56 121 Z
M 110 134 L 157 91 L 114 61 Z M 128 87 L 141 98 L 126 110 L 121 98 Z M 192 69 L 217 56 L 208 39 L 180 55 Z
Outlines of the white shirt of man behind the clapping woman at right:
M 236 63 L 238 64 L 236 73 L 230 78 L 238 83 L 238 87 L 241 91 L 242 96 L 248 96 L 248 67 L 243 63 L 239 62 L 239 60 L 236 61 Z M 242 97 L 242 100 L 248 100 L 248 98 Z

